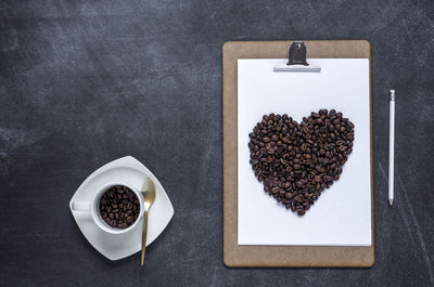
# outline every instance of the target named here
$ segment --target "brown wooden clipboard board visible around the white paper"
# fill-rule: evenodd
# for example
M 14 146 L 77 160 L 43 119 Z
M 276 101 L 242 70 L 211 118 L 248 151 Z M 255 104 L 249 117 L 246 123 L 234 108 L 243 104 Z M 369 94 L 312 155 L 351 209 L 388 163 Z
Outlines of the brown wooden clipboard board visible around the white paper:
M 230 268 L 370 268 L 374 264 L 372 89 L 369 68 L 371 246 L 238 245 L 238 60 L 288 58 L 293 41 L 229 41 L 222 47 L 224 262 Z M 366 40 L 304 41 L 307 58 L 368 58 Z M 369 64 L 370 65 L 370 64 Z M 371 65 L 370 65 L 371 66 Z

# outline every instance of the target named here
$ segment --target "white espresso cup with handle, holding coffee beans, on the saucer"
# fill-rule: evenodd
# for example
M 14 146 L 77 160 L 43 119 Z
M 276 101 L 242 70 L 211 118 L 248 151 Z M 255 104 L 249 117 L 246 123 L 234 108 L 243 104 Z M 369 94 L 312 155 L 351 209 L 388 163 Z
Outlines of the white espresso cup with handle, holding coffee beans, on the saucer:
M 113 227 L 113 226 L 108 225 L 102 219 L 101 212 L 100 212 L 100 199 L 101 199 L 101 196 L 106 191 L 108 191 L 111 187 L 116 186 L 116 185 L 123 185 L 123 186 L 126 186 L 126 187 L 130 188 L 137 195 L 137 198 L 139 198 L 139 203 L 140 203 L 139 217 L 136 219 L 135 223 L 132 223 L 130 226 L 128 226 L 126 229 L 116 229 L 116 227 Z M 98 190 L 93 194 L 93 196 L 92 196 L 90 201 L 73 201 L 72 208 L 75 211 L 90 212 L 94 223 L 101 230 L 103 230 L 106 233 L 111 233 L 111 234 L 123 234 L 123 233 L 126 233 L 126 232 L 132 230 L 139 223 L 139 221 L 143 217 L 143 212 L 144 212 L 144 210 L 143 210 L 143 197 L 142 197 L 141 193 L 139 193 L 131 185 L 128 185 L 128 184 L 123 183 L 123 182 L 110 183 L 110 184 L 106 184 L 106 185 L 102 186 L 100 190 Z

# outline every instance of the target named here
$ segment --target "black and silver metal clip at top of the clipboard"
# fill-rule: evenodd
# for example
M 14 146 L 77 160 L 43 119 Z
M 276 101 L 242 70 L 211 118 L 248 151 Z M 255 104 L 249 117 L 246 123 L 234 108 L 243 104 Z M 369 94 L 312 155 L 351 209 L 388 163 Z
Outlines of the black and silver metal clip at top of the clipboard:
M 320 66 L 312 65 L 306 60 L 307 49 L 303 41 L 294 41 L 288 48 L 288 63 L 277 64 L 275 71 L 321 71 Z

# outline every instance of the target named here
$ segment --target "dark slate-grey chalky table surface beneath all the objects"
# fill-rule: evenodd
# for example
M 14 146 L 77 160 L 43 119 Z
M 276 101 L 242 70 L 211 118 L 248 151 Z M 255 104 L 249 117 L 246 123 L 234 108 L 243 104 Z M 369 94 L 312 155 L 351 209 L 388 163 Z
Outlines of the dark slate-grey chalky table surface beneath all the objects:
M 221 47 L 285 39 L 372 44 L 372 269 L 224 265 Z M 429 0 L 2 1 L 0 286 L 433 286 L 433 50 Z M 68 209 L 88 174 L 125 155 L 175 208 L 144 268 L 139 253 L 101 256 Z

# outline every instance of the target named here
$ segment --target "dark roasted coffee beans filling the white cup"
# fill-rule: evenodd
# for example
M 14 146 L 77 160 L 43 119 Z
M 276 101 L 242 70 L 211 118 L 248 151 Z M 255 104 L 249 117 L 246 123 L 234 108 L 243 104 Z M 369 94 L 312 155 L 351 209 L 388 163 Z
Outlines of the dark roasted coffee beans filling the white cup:
M 100 199 L 100 213 L 110 226 L 127 229 L 140 213 L 140 201 L 136 193 L 123 185 L 108 188 Z

